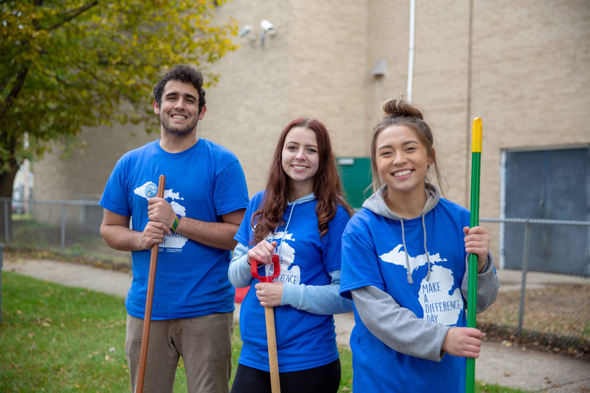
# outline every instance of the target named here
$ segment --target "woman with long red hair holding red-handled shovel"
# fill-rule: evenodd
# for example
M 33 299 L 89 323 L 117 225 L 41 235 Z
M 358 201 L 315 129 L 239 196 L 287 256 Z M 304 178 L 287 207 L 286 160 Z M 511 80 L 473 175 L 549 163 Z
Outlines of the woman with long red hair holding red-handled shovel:
M 250 201 L 235 240 L 229 277 L 247 287 L 240 309 L 242 352 L 232 393 L 271 391 L 264 307 L 274 307 L 282 393 L 337 392 L 340 360 L 333 314 L 352 311 L 340 297 L 346 204 L 326 127 L 300 118 L 278 137 L 266 189 Z M 253 279 L 250 264 L 268 276 L 272 256 L 281 271 L 272 283 Z

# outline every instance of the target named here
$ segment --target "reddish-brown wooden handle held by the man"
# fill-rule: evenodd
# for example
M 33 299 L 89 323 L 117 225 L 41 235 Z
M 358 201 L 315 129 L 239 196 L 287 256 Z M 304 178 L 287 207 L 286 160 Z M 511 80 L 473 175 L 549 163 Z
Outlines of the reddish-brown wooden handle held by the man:
M 166 176 L 160 175 L 158 182 L 158 198 L 164 197 Z M 152 258 L 149 261 L 148 294 L 146 295 L 146 310 L 143 315 L 142 349 L 139 355 L 139 371 L 137 371 L 137 387 L 135 393 L 143 393 L 143 380 L 146 376 L 146 362 L 148 361 L 149 328 L 152 322 L 153 286 L 156 281 L 156 264 L 158 264 L 158 243 L 152 245 Z

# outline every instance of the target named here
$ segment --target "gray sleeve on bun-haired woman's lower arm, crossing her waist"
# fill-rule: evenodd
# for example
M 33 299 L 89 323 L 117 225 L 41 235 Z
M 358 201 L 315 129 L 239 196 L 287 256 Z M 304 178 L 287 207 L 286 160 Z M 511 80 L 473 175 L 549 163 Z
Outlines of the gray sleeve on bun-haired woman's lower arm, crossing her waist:
M 449 326 L 418 318 L 375 286 L 353 289 L 351 293 L 360 320 L 389 348 L 435 362 L 442 359 L 442 342 Z

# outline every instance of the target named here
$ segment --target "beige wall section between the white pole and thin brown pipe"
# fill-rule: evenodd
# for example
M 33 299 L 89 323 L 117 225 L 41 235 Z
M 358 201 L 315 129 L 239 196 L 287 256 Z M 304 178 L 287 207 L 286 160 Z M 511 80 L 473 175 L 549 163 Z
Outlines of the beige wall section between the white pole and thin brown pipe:
M 469 1 L 418 3 L 414 94 L 424 107 L 437 141 L 446 196 L 468 206 L 466 198 L 467 81 Z

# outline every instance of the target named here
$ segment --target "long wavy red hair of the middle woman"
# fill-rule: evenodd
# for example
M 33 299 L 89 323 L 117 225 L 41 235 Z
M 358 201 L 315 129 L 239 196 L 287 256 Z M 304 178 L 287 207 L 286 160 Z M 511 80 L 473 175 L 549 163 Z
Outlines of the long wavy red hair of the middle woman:
M 344 199 L 332 153 L 332 143 L 330 143 L 330 135 L 326 127 L 319 120 L 300 117 L 289 123 L 278 137 L 277 147 L 274 149 L 273 160 L 268 170 L 264 200 L 251 219 L 251 225 L 254 228 L 253 245 L 263 241 L 268 232 L 274 232 L 285 223 L 283 214 L 289 203 L 289 186 L 287 174 L 282 165 L 283 146 L 287 133 L 294 127 L 312 130 L 317 138 L 320 160 L 319 168 L 314 176 L 313 193 L 317 198 L 316 215 L 320 237 L 328 231 L 328 223 L 336 215 L 338 205 L 345 208 L 348 215 L 352 216 L 353 209 Z M 254 224 L 256 224 L 255 227 Z

